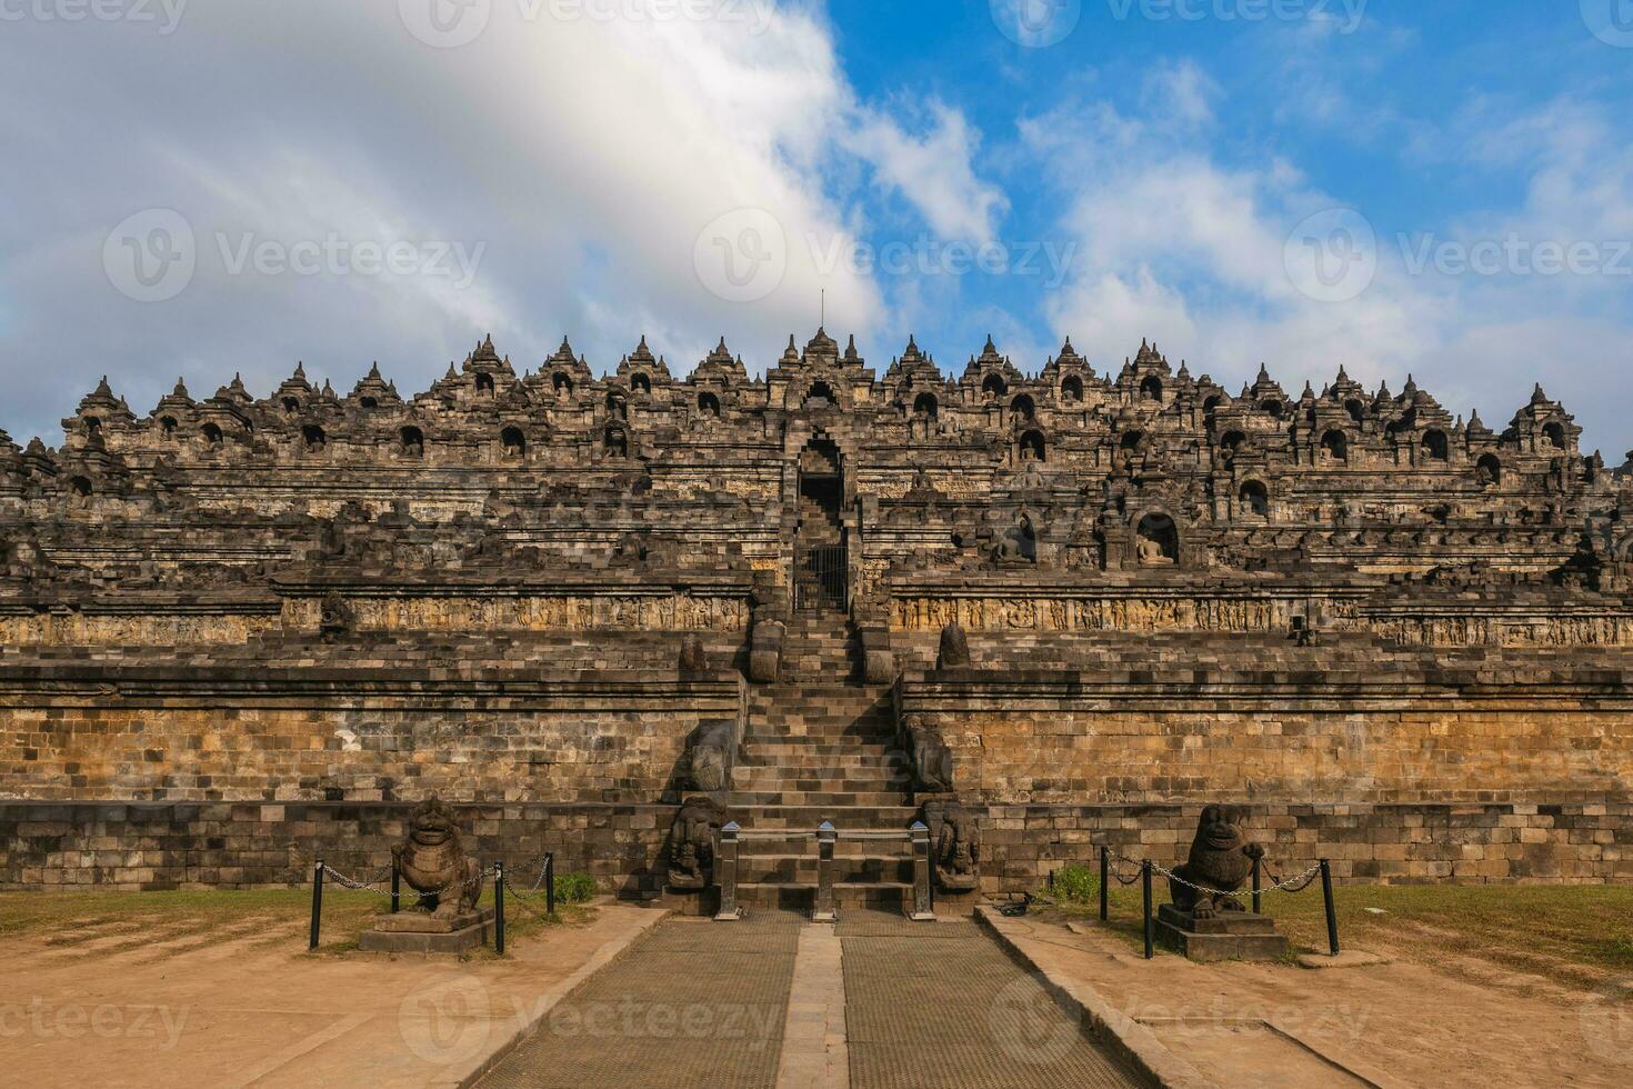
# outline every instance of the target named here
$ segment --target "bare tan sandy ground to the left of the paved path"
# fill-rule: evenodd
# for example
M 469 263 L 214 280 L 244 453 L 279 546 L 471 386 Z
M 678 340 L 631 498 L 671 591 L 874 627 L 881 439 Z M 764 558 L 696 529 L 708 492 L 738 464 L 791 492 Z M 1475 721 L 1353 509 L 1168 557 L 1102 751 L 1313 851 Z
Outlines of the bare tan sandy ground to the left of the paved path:
M 304 924 L 0 940 L 0 1082 L 447 1086 L 663 913 L 603 903 L 503 962 L 305 955 Z M 576 975 L 575 975 L 576 973 Z

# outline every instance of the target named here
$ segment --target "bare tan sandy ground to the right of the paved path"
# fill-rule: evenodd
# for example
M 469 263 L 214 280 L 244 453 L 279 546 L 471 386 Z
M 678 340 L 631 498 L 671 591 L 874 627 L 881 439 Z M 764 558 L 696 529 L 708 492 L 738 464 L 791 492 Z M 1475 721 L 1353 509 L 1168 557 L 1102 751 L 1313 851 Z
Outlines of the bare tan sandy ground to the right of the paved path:
M 1047 975 L 1086 983 L 1220 1086 L 1633 1084 L 1633 1004 L 1613 985 L 1581 993 L 1380 947 L 1390 963 L 1321 971 L 1146 962 L 1096 924 L 999 926 Z

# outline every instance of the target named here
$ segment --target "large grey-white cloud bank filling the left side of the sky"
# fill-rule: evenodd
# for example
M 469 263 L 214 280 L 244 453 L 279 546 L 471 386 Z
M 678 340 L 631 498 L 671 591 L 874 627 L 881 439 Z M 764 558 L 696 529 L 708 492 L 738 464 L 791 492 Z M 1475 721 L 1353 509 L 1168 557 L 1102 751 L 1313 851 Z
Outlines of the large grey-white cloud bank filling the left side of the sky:
M 416 41 L 397 7 L 281 0 L 251 18 L 189 5 L 167 38 L 7 24 L 0 90 L 31 108 L 0 116 L 13 171 L 0 371 L 33 376 L 42 349 L 54 359 L 0 424 L 52 441 L 103 372 L 137 411 L 178 372 L 196 395 L 235 369 L 265 392 L 297 358 L 343 390 L 376 358 L 403 390 L 423 389 L 485 331 L 518 366 L 565 331 L 598 367 L 647 333 L 676 372 L 725 333 L 758 369 L 789 331 L 810 331 L 821 289 L 849 328 L 885 322 L 872 278 L 825 268 L 807 245 L 865 229 L 854 196 L 826 188 L 836 160 L 865 155 L 936 230 L 978 235 L 1001 207 L 975 178 L 978 134 L 962 114 L 905 101 L 931 119 L 908 136 L 892 109 L 859 103 L 812 3 L 661 23 L 495 3 L 457 49 Z M 532 8 L 544 15 L 521 15 Z M 122 297 L 101 266 L 109 229 L 147 207 L 181 212 L 199 240 L 196 278 L 163 304 Z M 785 240 L 785 271 L 766 297 L 728 302 L 704 282 L 697 243 L 743 207 L 774 217 L 781 238 L 761 242 Z M 216 237 L 245 233 L 485 250 L 462 291 L 232 276 Z

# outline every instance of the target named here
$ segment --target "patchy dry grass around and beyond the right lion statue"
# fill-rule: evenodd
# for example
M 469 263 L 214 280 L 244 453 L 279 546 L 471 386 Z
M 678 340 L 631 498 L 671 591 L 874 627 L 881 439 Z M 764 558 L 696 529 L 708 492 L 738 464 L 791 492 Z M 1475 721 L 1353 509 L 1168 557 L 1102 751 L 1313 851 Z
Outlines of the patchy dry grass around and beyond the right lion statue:
M 1097 918 L 1086 901 L 1057 896 L 1045 914 Z M 1060 878 L 1057 877 L 1057 893 Z M 1155 905 L 1168 900 L 1153 885 Z M 1473 957 L 1509 971 L 1592 989 L 1633 970 L 1633 888 L 1615 885 L 1339 885 L 1339 944 L 1393 950 L 1426 963 Z M 1153 905 L 1153 909 L 1155 909 Z M 1141 949 L 1140 887 L 1110 890 L 1110 929 Z M 1295 945 L 1326 950 L 1321 882 L 1303 893 L 1266 893 L 1264 911 Z

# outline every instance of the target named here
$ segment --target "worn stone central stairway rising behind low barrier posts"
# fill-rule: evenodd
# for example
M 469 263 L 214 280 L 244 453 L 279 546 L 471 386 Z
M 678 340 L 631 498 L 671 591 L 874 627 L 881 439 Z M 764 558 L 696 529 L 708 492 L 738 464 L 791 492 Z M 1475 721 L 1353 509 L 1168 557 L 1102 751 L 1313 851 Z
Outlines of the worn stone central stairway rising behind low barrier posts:
M 787 627 L 781 681 L 750 696 L 732 771 L 743 905 L 813 906 L 823 821 L 839 833 L 839 908 L 903 908 L 911 898 L 911 769 L 897 748 L 890 686 L 864 684 L 859 660 L 844 614 L 799 614 Z

